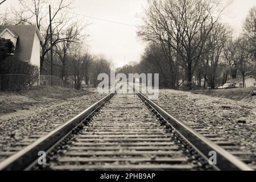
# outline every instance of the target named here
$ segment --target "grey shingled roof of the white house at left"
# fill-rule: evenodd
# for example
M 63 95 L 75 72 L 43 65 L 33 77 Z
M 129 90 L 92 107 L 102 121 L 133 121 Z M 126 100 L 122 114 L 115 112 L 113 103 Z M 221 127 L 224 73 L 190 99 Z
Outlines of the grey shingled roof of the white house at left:
M 39 40 L 42 40 L 38 28 L 35 25 L 0 26 L 0 34 L 6 28 L 18 37 L 14 59 L 29 61 L 31 59 L 35 34 L 38 35 Z

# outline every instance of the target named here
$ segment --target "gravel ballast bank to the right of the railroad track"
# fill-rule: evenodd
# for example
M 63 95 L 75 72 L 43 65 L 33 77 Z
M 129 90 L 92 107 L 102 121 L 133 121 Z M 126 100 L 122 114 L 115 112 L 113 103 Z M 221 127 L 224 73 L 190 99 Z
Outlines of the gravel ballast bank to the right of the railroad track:
M 256 105 L 176 90 L 160 90 L 155 101 L 170 114 L 205 124 L 210 131 L 235 142 L 241 151 L 256 153 Z

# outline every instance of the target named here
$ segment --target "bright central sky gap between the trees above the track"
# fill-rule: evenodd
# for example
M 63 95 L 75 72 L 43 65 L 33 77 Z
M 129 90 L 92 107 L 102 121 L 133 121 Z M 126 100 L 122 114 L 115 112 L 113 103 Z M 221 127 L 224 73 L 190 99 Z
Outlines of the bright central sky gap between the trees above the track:
M 93 53 L 102 53 L 113 60 L 115 67 L 129 61 L 139 61 L 144 46 L 137 38 L 138 18 L 147 0 L 75 0 L 76 12 L 83 15 L 106 19 L 86 18 L 90 23 L 89 46 Z

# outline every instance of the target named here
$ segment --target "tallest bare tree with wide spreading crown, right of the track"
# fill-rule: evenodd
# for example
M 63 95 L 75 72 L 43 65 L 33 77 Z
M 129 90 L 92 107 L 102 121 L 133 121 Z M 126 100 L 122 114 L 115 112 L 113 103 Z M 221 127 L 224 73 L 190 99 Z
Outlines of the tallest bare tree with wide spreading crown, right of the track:
M 205 42 L 224 8 L 220 9 L 220 1 L 213 0 L 152 0 L 148 4 L 138 35 L 162 46 L 172 74 L 177 75 L 178 64 L 185 69 L 191 89 Z

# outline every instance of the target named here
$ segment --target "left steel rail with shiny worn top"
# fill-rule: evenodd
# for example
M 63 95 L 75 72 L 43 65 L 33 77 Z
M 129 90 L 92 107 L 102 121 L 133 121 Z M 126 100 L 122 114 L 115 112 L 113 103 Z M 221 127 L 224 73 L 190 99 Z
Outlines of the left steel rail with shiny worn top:
M 73 129 L 75 129 L 76 126 L 84 121 L 84 119 L 91 115 L 94 110 L 96 110 L 114 94 L 115 91 L 111 92 L 108 94 L 108 96 L 88 107 L 79 115 L 76 115 L 76 117 L 70 119 L 44 137 L 39 138 L 23 150 L 20 150 L 16 154 L 4 160 L 2 163 L 0 163 L 0 171 L 21 171 L 28 169 L 31 164 L 38 160 L 39 151 L 49 151 L 51 148 L 53 148 L 53 146 L 56 146 L 56 143 L 59 143 L 62 139 L 64 139 L 69 133 L 72 132 Z

